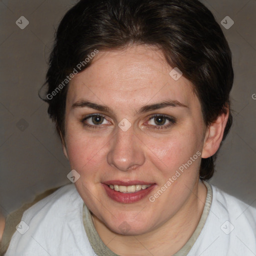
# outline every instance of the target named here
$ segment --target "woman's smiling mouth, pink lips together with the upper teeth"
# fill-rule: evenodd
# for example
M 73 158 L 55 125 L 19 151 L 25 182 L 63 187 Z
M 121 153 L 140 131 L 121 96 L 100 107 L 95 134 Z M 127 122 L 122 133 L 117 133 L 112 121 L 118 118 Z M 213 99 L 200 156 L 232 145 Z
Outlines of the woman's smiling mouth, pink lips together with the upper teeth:
M 138 180 L 120 181 L 112 180 L 101 183 L 106 195 L 117 202 L 133 203 L 144 198 L 155 186 L 155 183 L 148 183 Z

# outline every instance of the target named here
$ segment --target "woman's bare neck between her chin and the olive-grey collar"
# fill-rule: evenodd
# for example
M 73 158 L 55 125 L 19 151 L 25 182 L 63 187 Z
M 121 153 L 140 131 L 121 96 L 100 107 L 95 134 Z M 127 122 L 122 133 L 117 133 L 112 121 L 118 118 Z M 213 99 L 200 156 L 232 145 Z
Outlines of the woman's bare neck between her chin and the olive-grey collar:
M 141 235 L 121 235 L 112 232 L 92 214 L 92 220 L 101 240 L 121 256 L 172 255 L 194 232 L 205 203 L 207 189 L 199 180 L 186 203 L 163 225 Z

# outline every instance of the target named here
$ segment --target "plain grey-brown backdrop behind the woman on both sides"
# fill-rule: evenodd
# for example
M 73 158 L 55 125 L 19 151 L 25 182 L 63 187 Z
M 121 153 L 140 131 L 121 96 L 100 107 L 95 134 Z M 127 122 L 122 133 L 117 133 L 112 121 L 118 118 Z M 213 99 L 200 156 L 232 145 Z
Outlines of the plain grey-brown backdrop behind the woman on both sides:
M 70 171 L 47 105 L 37 96 L 44 82 L 54 30 L 77 1 L 0 1 L 0 211 L 4 215 L 35 194 L 70 182 Z M 225 29 L 233 53 L 235 79 L 233 127 L 223 143 L 210 182 L 256 207 L 255 0 L 207 0 L 203 3 Z M 29 24 L 20 29 L 15 21 Z M 255 95 L 256 97 L 256 95 Z M 255 98 L 254 97 L 254 98 Z

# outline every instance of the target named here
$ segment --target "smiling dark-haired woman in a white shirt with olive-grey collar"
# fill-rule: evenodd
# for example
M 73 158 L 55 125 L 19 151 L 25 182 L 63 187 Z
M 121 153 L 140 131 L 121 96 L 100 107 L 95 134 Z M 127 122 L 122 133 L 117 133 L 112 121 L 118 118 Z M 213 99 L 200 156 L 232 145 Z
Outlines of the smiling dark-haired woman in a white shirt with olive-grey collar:
M 254 255 L 256 209 L 205 181 L 232 82 L 199 1 L 79 1 L 45 97 L 74 184 L 25 211 L 6 255 Z

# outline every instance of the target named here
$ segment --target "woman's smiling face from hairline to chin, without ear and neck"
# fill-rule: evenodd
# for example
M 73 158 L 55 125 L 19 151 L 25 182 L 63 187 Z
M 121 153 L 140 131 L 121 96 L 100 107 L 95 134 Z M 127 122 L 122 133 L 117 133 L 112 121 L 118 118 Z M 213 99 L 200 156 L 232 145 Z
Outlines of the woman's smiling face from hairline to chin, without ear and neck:
M 114 232 L 154 230 L 197 186 L 200 103 L 171 69 L 159 50 L 131 46 L 99 52 L 69 84 L 64 152 L 80 196 Z

